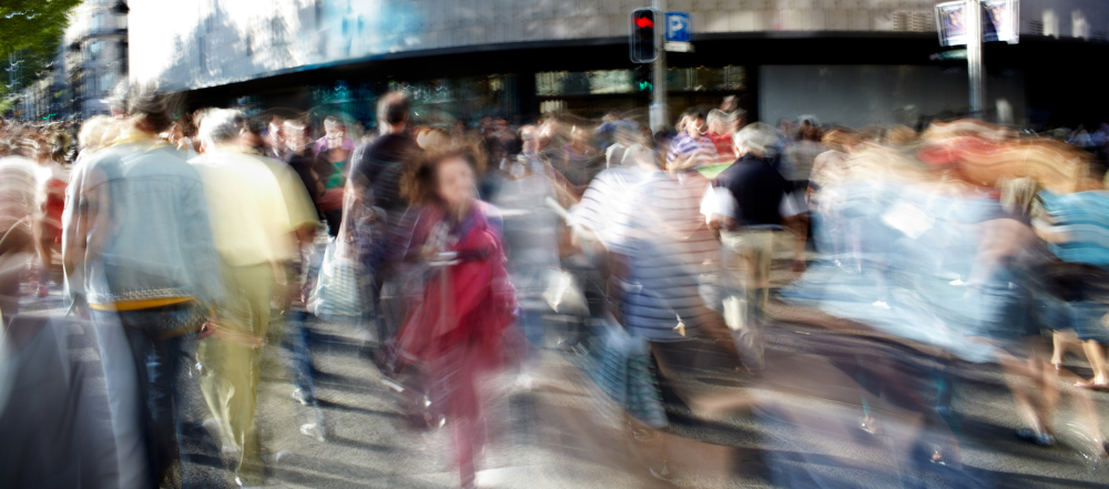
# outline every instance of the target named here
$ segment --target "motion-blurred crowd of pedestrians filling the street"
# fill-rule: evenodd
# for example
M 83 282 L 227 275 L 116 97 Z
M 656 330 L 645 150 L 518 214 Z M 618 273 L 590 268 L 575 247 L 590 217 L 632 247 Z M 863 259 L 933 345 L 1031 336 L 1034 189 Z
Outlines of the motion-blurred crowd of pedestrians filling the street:
M 71 315 L 57 320 L 93 326 L 110 427 L 69 438 L 70 460 L 0 457 L 0 486 L 191 487 L 189 426 L 218 440 L 238 485 L 264 485 L 264 348 L 291 345 L 293 397 L 316 412 L 302 432 L 354 429 L 325 429 L 309 315 L 355 324 L 409 418 L 452 430 L 462 487 L 489 431 L 482 378 L 511 371 L 530 388 L 543 352 L 562 352 L 620 408 L 618 426 L 650 438 L 670 422 L 664 397 L 696 404 L 660 379 L 703 350 L 733 357 L 736 377 L 766 375 L 765 328 L 782 307 L 943 359 L 902 371 L 861 355 L 851 367 L 868 393 L 859 429 L 883 430 L 875 398 L 913 399 L 902 407 L 922 416 L 928 462 L 960 467 L 953 371 L 974 364 L 1009 373 L 1016 436 L 1054 445 L 1067 399 L 1078 451 L 1095 467 L 1107 457 L 1092 397 L 1109 389 L 1105 126 L 774 126 L 732 99 L 658 133 L 619 112 L 418 126 L 390 92 L 376 133 L 360 134 L 338 114 L 315 128 L 180 109 L 123 84 L 113 116 L 79 132 L 0 126 L 0 374 L 17 371 L 19 330 L 49 328 L 20 316 L 21 283 L 44 296 L 63 279 Z M 787 285 L 772 279 L 779 255 Z M 1060 380 L 1068 353 L 1090 378 Z M 181 368 L 208 418 L 180 412 Z M 12 378 L 0 375 L 4 430 L 42 395 Z M 63 430 L 90 425 L 67 416 Z M 657 448 L 644 470 L 682 485 Z

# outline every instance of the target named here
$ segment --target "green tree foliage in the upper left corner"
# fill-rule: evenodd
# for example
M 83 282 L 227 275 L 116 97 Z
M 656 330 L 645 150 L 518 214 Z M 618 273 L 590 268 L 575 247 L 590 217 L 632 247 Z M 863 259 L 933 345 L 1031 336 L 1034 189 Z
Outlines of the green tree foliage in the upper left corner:
M 19 86 L 7 86 L 8 72 L 0 79 L 0 96 L 44 77 L 58 54 L 69 12 L 81 0 L 0 0 L 0 65 L 8 70 L 8 54 L 19 52 L 22 77 Z

